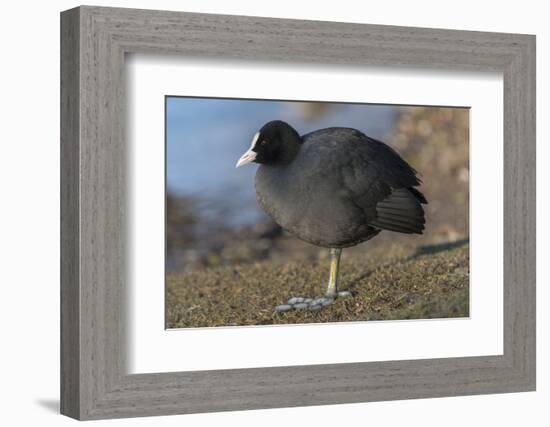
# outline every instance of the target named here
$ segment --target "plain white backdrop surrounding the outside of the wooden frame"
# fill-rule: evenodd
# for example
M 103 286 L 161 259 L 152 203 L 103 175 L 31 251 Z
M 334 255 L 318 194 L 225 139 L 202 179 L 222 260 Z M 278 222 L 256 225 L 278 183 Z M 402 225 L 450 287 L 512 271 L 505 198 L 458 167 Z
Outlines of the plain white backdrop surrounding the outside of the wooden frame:
M 72 1 L 3 5 L 0 182 L 2 424 L 68 425 L 57 415 L 59 384 L 59 16 Z M 375 24 L 536 33 L 538 218 L 548 218 L 550 28 L 544 2 L 462 0 L 97 1 L 96 4 Z M 103 422 L 124 426 L 546 426 L 548 370 L 548 224 L 538 224 L 538 392 L 199 414 Z M 543 241 L 543 238 L 546 238 Z M 95 423 L 91 423 L 95 424 Z

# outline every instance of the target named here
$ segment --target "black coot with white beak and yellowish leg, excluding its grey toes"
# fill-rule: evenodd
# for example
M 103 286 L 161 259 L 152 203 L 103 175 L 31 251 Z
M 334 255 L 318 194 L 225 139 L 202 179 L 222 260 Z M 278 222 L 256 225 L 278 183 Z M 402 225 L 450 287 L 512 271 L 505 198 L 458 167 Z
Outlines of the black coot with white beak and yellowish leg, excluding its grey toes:
M 257 132 L 236 167 L 259 163 L 260 207 L 296 237 L 330 249 L 326 297 L 338 295 L 342 248 L 382 230 L 422 234 L 417 172 L 388 145 L 344 127 L 300 136 L 276 120 Z

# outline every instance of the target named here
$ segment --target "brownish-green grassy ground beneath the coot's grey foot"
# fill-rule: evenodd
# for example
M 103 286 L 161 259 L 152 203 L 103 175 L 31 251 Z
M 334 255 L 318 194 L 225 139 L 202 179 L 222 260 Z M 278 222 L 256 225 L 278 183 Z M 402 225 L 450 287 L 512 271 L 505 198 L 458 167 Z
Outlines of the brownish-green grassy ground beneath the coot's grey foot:
M 273 307 L 322 296 L 328 260 L 258 262 L 167 275 L 168 328 L 464 317 L 469 312 L 467 242 L 342 257 L 340 298 L 319 312 Z

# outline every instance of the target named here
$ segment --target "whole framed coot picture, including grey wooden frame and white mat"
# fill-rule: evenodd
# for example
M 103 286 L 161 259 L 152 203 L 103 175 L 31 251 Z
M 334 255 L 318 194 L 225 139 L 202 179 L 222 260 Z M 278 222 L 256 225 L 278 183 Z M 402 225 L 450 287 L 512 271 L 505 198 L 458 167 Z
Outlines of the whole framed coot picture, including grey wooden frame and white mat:
M 61 14 L 61 412 L 535 389 L 535 37 Z

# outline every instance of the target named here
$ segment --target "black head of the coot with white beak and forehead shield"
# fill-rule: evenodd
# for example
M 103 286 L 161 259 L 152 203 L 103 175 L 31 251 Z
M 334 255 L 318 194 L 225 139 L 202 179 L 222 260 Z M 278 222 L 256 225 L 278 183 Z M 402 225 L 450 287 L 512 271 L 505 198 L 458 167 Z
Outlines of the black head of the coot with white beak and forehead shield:
M 235 167 L 248 163 L 281 165 L 290 163 L 298 150 L 302 139 L 296 130 L 280 120 L 266 123 L 254 134 L 250 148 L 240 157 Z

